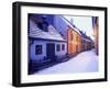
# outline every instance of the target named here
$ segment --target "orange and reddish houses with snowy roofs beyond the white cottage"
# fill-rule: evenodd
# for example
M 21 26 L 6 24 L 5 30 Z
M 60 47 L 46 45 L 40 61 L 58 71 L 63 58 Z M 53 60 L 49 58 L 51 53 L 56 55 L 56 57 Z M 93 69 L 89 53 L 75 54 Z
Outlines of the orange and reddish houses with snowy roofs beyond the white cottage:
M 67 54 L 74 55 L 91 49 L 94 45 L 92 40 L 72 22 L 62 15 L 56 15 L 54 20 L 55 27 L 61 30 L 59 32 L 67 41 Z

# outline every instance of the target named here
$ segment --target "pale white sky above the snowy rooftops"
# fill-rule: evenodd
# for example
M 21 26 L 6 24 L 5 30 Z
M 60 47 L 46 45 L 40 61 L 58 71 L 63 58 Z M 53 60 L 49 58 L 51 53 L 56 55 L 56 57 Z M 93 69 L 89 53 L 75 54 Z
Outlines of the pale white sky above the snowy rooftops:
M 72 23 L 74 23 L 80 31 L 82 31 L 94 40 L 91 16 L 68 16 L 68 15 L 63 15 L 63 16 L 66 18 Z

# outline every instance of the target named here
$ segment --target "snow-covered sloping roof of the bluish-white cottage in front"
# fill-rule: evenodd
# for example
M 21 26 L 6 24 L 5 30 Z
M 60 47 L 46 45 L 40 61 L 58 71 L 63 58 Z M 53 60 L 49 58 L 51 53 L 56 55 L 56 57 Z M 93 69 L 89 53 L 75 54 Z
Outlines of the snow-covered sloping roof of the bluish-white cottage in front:
M 44 38 L 44 40 L 55 40 L 55 41 L 66 41 L 63 36 L 58 33 L 57 30 L 53 25 L 48 25 L 48 31 L 45 32 L 37 27 L 37 24 L 34 21 L 30 20 L 30 37 L 36 38 Z

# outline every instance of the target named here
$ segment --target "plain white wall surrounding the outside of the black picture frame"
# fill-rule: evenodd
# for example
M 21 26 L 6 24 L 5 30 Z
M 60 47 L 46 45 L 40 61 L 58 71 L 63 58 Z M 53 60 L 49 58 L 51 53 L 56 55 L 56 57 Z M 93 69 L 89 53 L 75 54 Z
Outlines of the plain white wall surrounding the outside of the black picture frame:
M 0 89 L 14 89 L 14 87 L 11 86 L 12 2 L 13 1 L 15 0 L 0 1 Z M 110 0 L 23 0 L 23 1 L 99 5 L 99 7 L 108 7 L 109 8 L 108 11 L 110 11 Z M 108 12 L 108 15 L 110 15 L 110 12 Z M 109 20 L 108 23 L 110 23 L 110 16 L 108 20 Z M 109 26 L 108 33 L 110 34 L 110 25 L 108 26 Z M 110 35 L 108 37 L 110 38 Z M 108 45 L 110 45 L 110 40 L 109 40 Z M 108 49 L 110 49 L 110 46 Z M 110 51 L 108 52 L 110 53 Z M 109 54 L 109 58 L 110 58 L 110 54 Z M 108 64 L 109 64 L 108 75 L 110 75 L 110 59 L 108 60 Z M 109 79 L 110 79 L 110 76 L 109 76 Z M 37 89 L 109 89 L 109 88 L 110 88 L 110 81 L 37 87 Z M 29 89 L 36 89 L 36 87 L 29 87 Z

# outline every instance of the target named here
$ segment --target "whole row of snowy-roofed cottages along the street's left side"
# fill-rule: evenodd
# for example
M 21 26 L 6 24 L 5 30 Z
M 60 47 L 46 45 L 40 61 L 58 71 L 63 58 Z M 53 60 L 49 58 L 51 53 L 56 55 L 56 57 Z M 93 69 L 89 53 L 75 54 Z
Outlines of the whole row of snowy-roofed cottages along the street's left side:
M 61 62 L 94 42 L 62 15 L 29 14 L 29 59 L 34 63 Z

